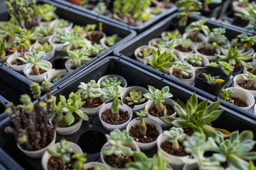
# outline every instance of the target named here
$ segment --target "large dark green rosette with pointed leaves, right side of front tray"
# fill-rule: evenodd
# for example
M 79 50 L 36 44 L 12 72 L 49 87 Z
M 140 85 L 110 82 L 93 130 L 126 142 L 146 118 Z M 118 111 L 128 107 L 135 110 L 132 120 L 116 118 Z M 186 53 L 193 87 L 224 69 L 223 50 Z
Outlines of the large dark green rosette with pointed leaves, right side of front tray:
M 161 120 L 169 125 L 174 125 L 178 128 L 192 128 L 193 132 L 203 132 L 207 137 L 216 138 L 220 135 L 228 137 L 230 133 L 227 130 L 213 128 L 208 123 L 216 120 L 223 110 L 218 110 L 220 101 L 215 101 L 209 106 L 208 101 L 203 101 L 198 104 L 196 94 L 193 94 L 187 101 L 186 105 L 178 99 L 177 103 L 173 103 L 174 110 L 181 118 L 162 117 Z

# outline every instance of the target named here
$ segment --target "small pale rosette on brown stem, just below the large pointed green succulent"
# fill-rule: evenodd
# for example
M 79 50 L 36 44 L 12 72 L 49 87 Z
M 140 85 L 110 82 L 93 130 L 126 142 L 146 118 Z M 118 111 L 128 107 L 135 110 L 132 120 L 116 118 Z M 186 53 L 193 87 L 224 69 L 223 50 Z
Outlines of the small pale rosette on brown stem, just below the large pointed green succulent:
M 171 147 L 174 150 L 178 150 L 180 148 L 178 141 L 182 141 L 185 139 L 186 134 L 183 133 L 183 129 L 182 128 L 175 128 L 172 127 L 169 131 L 166 130 L 164 131 L 164 135 L 166 137 L 169 137 L 169 142 L 171 142 Z

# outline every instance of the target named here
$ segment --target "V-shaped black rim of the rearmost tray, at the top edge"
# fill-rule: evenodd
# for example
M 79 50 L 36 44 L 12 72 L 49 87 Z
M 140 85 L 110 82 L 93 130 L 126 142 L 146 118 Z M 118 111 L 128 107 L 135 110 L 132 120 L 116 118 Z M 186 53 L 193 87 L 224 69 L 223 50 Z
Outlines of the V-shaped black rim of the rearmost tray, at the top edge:
M 150 26 L 153 26 L 155 23 L 161 21 L 161 19 L 165 18 L 166 16 L 169 16 L 171 13 L 174 13 L 177 10 L 177 7 L 174 6 L 174 7 L 171 7 L 169 9 L 167 9 L 163 13 L 157 15 L 156 17 L 151 18 L 149 21 L 146 21 L 146 22 L 140 24 L 139 26 L 129 26 L 128 24 L 117 21 L 114 18 L 110 18 L 109 16 L 104 16 L 104 15 L 95 13 L 92 10 L 89 10 L 87 8 L 82 8 L 82 6 L 72 4 L 72 3 L 68 2 L 68 1 L 65 1 L 65 0 L 53 0 L 53 1 L 58 2 L 60 4 L 64 4 L 65 6 L 70 6 L 72 8 L 75 8 L 76 10 L 79 10 L 79 11 L 82 11 L 84 13 L 90 14 L 91 16 L 96 16 L 97 18 L 102 18 L 105 21 L 110 21 L 111 23 L 116 23 L 119 26 L 124 26 L 124 27 L 130 28 L 130 29 L 136 30 L 137 33 L 142 33 L 142 31 L 146 30 Z

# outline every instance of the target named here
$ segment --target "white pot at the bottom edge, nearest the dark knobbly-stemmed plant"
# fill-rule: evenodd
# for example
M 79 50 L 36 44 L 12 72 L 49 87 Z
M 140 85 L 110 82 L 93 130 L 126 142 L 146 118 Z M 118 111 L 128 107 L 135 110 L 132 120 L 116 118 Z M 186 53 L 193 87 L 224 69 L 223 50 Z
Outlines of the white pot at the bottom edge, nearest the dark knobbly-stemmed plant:
M 78 145 L 76 145 L 73 142 L 69 142 L 69 143 L 72 146 L 73 152 L 75 154 L 77 154 L 77 153 L 82 154 L 83 153 L 82 149 Z M 53 145 L 52 148 L 57 149 L 58 145 L 60 145 L 60 142 Z M 48 170 L 48 161 L 49 161 L 50 157 L 52 157 L 52 156 L 48 152 L 45 152 L 43 154 L 43 157 L 41 159 L 41 164 L 42 164 L 44 170 Z

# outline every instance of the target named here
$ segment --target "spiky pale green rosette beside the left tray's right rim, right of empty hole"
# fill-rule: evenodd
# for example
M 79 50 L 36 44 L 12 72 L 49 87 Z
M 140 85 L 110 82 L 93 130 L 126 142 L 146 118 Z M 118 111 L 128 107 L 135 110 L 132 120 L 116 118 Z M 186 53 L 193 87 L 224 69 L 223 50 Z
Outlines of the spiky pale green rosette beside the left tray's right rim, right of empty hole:
M 86 48 L 83 47 L 80 50 L 73 50 L 73 51 L 68 51 L 68 56 L 63 57 L 64 59 L 70 60 L 71 64 L 75 64 L 75 68 L 77 69 L 82 65 L 82 61 L 90 61 L 91 58 L 86 55 Z

